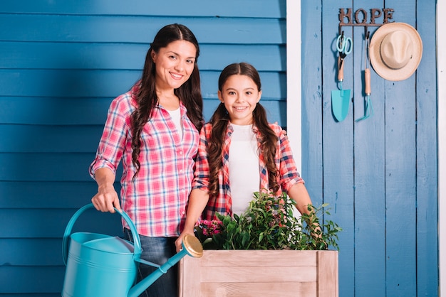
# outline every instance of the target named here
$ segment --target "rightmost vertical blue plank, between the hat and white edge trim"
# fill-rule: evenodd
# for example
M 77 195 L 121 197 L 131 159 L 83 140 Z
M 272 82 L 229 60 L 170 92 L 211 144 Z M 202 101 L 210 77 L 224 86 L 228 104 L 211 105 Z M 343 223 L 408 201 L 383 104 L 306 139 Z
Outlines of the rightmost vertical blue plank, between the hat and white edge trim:
M 432 20 L 435 1 L 417 2 L 418 20 Z M 417 296 L 439 296 L 438 176 L 437 176 L 437 77 L 435 22 L 418 21 L 423 43 L 422 62 L 417 70 Z M 444 87 L 444 86 L 442 86 Z M 440 95 L 441 97 L 441 95 Z M 441 109 L 441 107 L 438 107 Z M 441 136 L 440 136 L 441 137 Z M 444 183 L 440 181 L 440 183 Z M 440 227 L 441 228 L 441 227 Z M 440 247 L 441 249 L 441 247 Z M 440 255 L 440 257 L 442 257 Z M 440 268 L 442 271 L 442 269 Z M 442 272 L 444 273 L 444 272 Z M 444 290 L 440 280 L 442 291 Z

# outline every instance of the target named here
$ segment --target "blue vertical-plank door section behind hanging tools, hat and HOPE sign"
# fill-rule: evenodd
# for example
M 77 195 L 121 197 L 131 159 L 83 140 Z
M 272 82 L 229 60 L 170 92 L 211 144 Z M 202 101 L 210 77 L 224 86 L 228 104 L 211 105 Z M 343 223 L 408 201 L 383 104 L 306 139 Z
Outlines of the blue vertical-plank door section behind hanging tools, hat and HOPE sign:
M 331 112 L 341 8 L 365 9 L 368 23 L 370 9 L 391 8 L 392 21 L 417 28 L 423 42 L 408 80 L 371 71 L 374 115 L 363 121 L 355 120 L 364 115 L 364 27 L 342 28 L 353 38 L 343 82 L 352 100 L 345 120 Z M 435 1 L 302 1 L 301 15 L 302 172 L 313 200 L 330 203 L 344 229 L 340 296 L 437 296 Z

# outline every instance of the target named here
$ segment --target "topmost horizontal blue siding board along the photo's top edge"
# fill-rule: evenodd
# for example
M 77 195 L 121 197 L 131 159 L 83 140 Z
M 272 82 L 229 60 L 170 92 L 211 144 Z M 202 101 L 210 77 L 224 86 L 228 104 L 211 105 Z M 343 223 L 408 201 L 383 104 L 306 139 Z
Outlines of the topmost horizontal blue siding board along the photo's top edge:
M 237 9 L 234 9 L 237 7 Z M 209 2 L 197 0 L 193 4 L 178 1 L 172 5 L 170 1 L 153 5 L 152 2 L 129 0 L 95 1 L 45 1 L 26 0 L 17 3 L 11 1 L 0 6 L 1 13 L 43 13 L 43 14 L 87 14 L 87 15 L 128 15 L 128 16 L 230 16 L 285 18 L 285 0 L 227 0 Z M 199 9 L 197 9 L 199 8 Z

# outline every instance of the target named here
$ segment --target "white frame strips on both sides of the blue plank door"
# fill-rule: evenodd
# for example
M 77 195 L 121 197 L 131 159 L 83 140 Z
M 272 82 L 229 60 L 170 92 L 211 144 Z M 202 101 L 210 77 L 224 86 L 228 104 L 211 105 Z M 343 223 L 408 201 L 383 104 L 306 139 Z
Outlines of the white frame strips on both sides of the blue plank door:
M 446 1 L 437 1 L 437 106 L 438 106 L 438 257 L 440 297 L 446 297 L 446 37 L 438 34 L 446 29 Z M 286 0 L 286 126 L 301 172 L 301 0 Z M 441 137 L 440 137 L 441 136 Z M 443 180 L 443 182 L 442 182 Z M 433 206 L 433 205 L 432 205 Z M 443 273 L 442 273 L 443 272 Z

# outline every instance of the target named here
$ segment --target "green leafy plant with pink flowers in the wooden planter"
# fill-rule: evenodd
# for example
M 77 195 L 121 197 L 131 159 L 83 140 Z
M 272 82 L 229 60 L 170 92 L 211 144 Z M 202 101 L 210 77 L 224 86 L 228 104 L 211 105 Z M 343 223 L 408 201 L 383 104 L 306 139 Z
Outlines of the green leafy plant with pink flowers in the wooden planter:
M 256 192 L 242 215 L 217 214 L 219 220 L 201 221 L 195 231 L 205 249 L 338 249 L 341 227 L 331 220 L 321 224 L 318 218 L 330 215 L 328 204 L 308 205 L 309 214 L 300 218 L 294 205 L 285 193 Z

